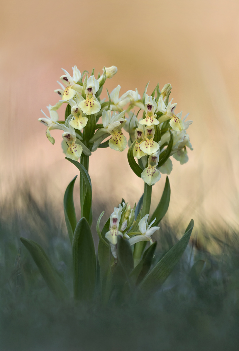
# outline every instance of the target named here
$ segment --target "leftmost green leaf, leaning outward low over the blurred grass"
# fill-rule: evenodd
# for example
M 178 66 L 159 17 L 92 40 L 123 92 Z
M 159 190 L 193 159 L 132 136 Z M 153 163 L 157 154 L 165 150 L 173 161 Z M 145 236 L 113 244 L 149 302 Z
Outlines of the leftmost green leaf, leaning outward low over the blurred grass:
M 58 276 L 43 248 L 33 240 L 23 237 L 21 237 L 20 240 L 30 252 L 51 292 L 59 299 L 69 297 L 67 287 Z

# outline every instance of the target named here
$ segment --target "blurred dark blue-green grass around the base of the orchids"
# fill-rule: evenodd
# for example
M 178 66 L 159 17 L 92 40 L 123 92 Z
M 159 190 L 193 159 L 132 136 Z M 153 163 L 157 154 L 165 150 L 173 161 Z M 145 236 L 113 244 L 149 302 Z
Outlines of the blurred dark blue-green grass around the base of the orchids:
M 115 291 L 105 307 L 99 292 L 91 305 L 72 299 L 59 302 L 19 238 L 40 243 L 72 290 L 71 247 L 62 206 L 53 204 L 44 191 L 36 199 L 27 186 L 13 194 L 1 205 L 1 350 L 238 349 L 238 230 L 197 224 L 171 277 L 144 301 L 122 303 Z M 95 201 L 94 206 L 98 213 L 104 204 Z M 155 262 L 182 232 L 177 223 L 162 221 L 155 237 Z M 201 273 L 192 268 L 199 260 Z

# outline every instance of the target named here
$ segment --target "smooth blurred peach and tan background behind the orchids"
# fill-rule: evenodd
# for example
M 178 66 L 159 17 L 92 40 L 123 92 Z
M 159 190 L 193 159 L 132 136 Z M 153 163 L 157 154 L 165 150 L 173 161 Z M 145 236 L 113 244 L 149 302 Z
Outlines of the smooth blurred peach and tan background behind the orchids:
M 58 101 L 62 67 L 102 72 L 115 65 L 103 96 L 118 84 L 142 96 L 149 80 L 150 92 L 171 83 L 176 112 L 194 121 L 189 162 L 173 159 L 169 218 L 238 224 L 238 1 L 9 0 L 1 3 L 0 28 L 2 201 L 27 180 L 36 194 L 44 186 L 62 203 L 77 171 L 64 159 L 61 133 L 52 132 L 54 146 L 46 139 L 40 109 Z M 97 150 L 89 173 L 93 201 L 116 205 L 124 197 L 133 205 L 143 193 L 127 150 Z M 154 204 L 164 180 L 154 187 Z

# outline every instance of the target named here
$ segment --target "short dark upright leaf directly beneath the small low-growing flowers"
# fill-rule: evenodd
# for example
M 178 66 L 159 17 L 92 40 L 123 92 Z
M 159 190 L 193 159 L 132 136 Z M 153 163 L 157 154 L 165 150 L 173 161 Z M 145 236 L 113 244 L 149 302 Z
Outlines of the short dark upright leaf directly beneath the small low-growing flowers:
M 120 264 L 128 277 L 134 268 L 133 254 L 128 240 L 119 237 L 117 243 L 117 253 Z

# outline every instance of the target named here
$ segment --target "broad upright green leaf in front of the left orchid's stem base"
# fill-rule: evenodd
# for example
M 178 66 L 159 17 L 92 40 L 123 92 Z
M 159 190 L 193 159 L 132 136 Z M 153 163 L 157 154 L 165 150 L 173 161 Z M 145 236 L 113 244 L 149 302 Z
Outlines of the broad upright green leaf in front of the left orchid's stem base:
M 74 297 L 80 300 L 90 300 L 95 291 L 96 256 L 90 226 L 84 217 L 78 221 L 75 229 L 72 259 Z

